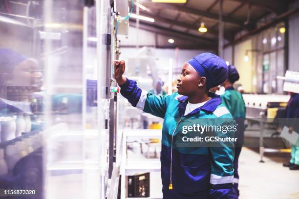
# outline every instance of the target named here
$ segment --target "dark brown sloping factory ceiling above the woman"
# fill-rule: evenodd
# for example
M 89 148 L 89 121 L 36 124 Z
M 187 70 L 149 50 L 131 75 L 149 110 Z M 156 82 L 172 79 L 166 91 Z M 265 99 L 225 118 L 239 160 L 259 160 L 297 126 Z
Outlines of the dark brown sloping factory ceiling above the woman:
M 234 42 L 235 34 L 244 30 L 252 32 L 260 19 L 274 19 L 288 11 L 293 0 L 222 0 L 222 21 L 226 43 Z M 153 18 L 154 22 L 140 20 L 141 29 L 150 27 L 151 32 L 169 36 L 168 32 L 181 35 L 186 40 L 195 40 L 198 45 L 216 46 L 218 41 L 219 7 L 221 0 L 187 0 L 186 3 L 156 3 L 151 0 L 134 0 L 133 13 Z M 271 19 L 270 19 L 271 20 Z M 207 32 L 198 31 L 201 22 Z M 267 21 L 268 22 L 268 21 Z M 130 18 L 136 26 L 136 20 Z M 164 32 L 161 33 L 161 30 Z M 167 31 L 168 30 L 168 31 Z M 186 38 L 187 37 L 187 38 Z

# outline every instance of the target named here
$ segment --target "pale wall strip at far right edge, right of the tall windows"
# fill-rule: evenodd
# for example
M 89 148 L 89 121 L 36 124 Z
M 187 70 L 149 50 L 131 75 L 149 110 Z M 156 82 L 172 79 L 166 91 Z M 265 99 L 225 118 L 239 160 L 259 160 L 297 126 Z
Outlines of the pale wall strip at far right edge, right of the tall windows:
M 299 0 L 291 8 L 299 8 Z M 299 71 L 299 13 L 289 19 L 289 70 Z

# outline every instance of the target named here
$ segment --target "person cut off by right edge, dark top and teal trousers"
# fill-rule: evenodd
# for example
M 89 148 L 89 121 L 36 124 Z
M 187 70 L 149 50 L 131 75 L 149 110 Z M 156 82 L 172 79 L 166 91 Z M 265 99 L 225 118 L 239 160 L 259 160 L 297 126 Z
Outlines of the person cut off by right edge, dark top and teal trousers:
M 290 118 L 290 119 L 288 119 Z M 297 118 L 297 119 L 294 119 Z M 299 133 L 299 94 L 291 93 L 291 98 L 286 107 L 286 124 L 289 127 L 289 133 L 293 131 Z M 283 166 L 289 167 L 290 170 L 299 170 L 299 146 L 291 144 L 291 160 L 284 163 Z

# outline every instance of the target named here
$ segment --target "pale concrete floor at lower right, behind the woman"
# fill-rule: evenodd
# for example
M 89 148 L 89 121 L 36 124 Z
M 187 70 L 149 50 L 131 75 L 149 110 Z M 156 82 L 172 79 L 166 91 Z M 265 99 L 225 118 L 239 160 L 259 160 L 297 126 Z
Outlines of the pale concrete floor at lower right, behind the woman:
M 282 167 L 289 160 L 286 153 L 259 154 L 243 148 L 239 158 L 239 199 L 299 199 L 299 170 Z

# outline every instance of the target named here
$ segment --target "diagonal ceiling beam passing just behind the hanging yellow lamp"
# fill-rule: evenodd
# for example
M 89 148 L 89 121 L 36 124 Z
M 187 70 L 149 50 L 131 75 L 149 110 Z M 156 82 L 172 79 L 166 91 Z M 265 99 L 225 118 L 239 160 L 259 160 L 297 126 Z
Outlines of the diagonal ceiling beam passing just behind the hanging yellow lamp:
M 175 26 L 179 26 L 179 27 L 182 27 L 182 28 L 186 28 L 186 29 L 198 31 L 198 27 L 196 26 L 196 24 L 195 25 L 189 25 L 187 23 L 183 23 L 183 22 L 179 22 L 179 21 L 175 21 L 175 20 L 169 20 L 169 19 L 162 18 L 162 17 L 156 17 L 154 15 L 149 15 L 149 14 L 147 14 L 145 12 L 140 12 L 140 14 L 142 16 L 145 16 L 145 17 L 154 18 L 155 21 L 157 21 L 157 22 L 168 23 L 169 25 L 171 25 L 171 27 L 175 25 Z M 214 31 L 214 30 L 208 30 L 208 33 L 212 34 L 214 36 L 218 36 L 218 32 Z M 225 34 L 224 38 L 226 40 L 231 40 L 232 39 L 230 37 L 230 35 L 228 35 L 228 34 Z

